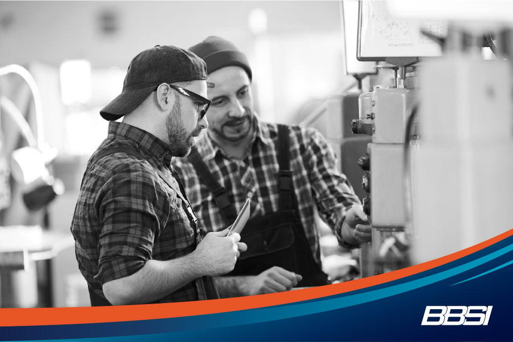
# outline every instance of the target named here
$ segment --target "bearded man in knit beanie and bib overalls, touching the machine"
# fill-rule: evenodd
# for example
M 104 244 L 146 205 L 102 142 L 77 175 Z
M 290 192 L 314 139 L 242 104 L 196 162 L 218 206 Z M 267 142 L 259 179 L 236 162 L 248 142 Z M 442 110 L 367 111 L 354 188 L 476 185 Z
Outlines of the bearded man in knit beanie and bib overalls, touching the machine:
M 370 240 L 370 225 L 333 151 L 313 128 L 262 122 L 252 73 L 233 43 L 211 36 L 190 51 L 207 64 L 208 130 L 173 167 L 202 226 L 221 231 L 250 199 L 241 233 L 247 251 L 215 281 L 222 296 L 280 292 L 329 283 L 321 268 L 315 207 L 341 245 Z

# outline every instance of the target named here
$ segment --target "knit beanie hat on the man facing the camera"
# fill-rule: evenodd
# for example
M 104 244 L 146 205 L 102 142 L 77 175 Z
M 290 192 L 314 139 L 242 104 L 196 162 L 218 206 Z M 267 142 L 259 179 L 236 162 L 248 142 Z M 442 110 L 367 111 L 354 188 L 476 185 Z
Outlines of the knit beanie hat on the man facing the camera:
M 239 66 L 248 74 L 251 81 L 251 68 L 246 55 L 239 51 L 235 45 L 221 37 L 210 36 L 203 42 L 189 48 L 189 51 L 198 55 L 207 64 L 207 73 L 227 67 Z

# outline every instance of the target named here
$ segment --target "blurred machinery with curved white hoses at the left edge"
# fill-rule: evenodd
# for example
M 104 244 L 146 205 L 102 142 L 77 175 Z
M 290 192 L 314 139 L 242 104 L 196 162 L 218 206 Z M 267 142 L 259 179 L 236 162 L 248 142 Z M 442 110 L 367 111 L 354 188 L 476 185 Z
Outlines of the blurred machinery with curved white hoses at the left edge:
M 57 150 L 45 143 L 41 96 L 32 75 L 19 65 L 0 68 L 0 77 L 4 75 L 14 77 L 0 89 L 0 307 L 52 306 L 49 260 L 72 242 L 48 230 L 47 205 L 64 192 L 50 170 Z M 24 83 L 18 84 L 20 79 Z M 27 86 L 28 102 L 19 101 Z M 25 108 L 33 105 L 34 115 L 30 109 L 24 115 L 11 99 Z M 17 214 L 5 215 L 11 210 Z M 47 262 L 36 263 L 41 260 Z

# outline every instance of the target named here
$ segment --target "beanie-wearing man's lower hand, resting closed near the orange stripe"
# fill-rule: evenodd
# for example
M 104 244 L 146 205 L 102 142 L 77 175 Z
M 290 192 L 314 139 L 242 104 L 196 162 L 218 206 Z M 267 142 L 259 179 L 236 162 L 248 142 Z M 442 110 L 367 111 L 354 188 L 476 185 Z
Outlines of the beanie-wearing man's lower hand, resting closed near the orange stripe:
M 249 281 L 249 295 L 283 292 L 295 287 L 303 277 L 281 267 L 274 266 Z

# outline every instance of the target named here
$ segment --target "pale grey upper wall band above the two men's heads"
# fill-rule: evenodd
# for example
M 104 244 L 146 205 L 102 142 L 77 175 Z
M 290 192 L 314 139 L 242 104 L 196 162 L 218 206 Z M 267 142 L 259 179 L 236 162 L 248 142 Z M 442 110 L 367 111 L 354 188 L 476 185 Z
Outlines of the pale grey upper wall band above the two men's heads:
M 38 60 L 59 65 L 85 58 L 93 68 L 126 68 L 156 44 L 187 48 L 221 35 L 245 49 L 248 15 L 262 8 L 271 34 L 339 31 L 335 1 L 64 1 L 0 2 L 0 65 Z M 117 15 L 113 34 L 101 30 L 104 12 Z

